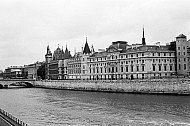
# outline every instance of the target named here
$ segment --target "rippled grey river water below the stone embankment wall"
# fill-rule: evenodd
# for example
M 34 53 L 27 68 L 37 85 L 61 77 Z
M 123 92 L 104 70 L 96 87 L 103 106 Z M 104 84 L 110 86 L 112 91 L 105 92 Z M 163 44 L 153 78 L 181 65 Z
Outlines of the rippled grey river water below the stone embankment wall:
M 190 96 L 0 89 L 0 108 L 30 126 L 190 126 Z

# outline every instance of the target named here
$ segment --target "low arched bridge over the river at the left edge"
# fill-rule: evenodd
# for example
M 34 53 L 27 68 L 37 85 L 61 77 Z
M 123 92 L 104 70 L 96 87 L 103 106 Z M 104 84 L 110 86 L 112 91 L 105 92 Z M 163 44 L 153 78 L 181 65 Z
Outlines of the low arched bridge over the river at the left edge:
M 0 80 L 0 88 L 8 87 L 10 85 L 22 85 L 26 87 L 33 87 L 35 80 L 28 79 L 2 79 Z

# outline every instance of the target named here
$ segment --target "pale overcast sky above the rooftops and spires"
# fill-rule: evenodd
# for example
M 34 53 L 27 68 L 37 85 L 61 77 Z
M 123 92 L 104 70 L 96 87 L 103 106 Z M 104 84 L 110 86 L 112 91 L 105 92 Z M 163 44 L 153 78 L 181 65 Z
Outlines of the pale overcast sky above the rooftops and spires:
M 74 53 L 117 40 L 166 44 L 190 38 L 190 0 L 0 0 L 0 69 L 44 61 L 47 45 Z

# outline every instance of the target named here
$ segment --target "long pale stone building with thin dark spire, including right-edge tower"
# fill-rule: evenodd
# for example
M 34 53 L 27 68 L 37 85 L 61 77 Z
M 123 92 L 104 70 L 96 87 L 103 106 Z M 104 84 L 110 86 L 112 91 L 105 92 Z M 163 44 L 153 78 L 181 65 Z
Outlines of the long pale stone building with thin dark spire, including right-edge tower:
M 88 58 L 89 79 L 143 79 L 190 74 L 190 41 L 181 34 L 167 45 L 128 45 L 112 42 L 106 51 L 96 52 Z

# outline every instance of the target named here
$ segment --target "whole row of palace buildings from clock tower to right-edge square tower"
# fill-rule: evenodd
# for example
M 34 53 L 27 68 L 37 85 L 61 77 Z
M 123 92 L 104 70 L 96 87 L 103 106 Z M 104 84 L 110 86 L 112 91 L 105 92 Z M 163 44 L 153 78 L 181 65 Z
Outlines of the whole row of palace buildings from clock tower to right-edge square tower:
M 106 50 L 94 52 L 86 40 L 85 47 L 74 56 L 59 47 L 53 57 L 49 46 L 46 57 L 47 79 L 143 79 L 190 74 L 190 40 L 180 34 L 166 45 L 129 45 L 126 41 L 112 42 Z

